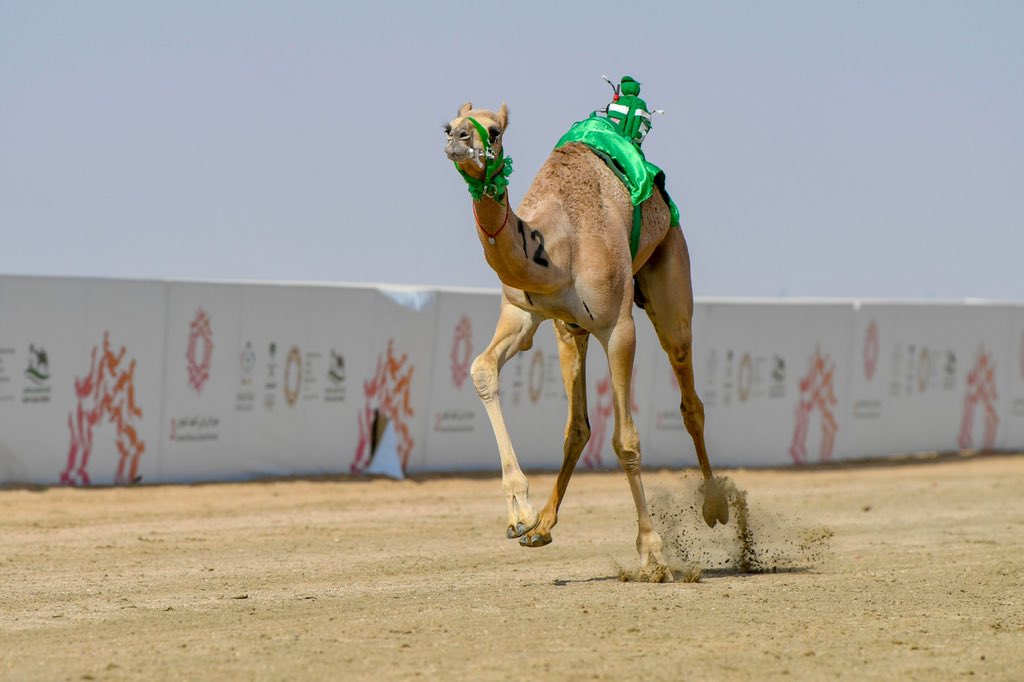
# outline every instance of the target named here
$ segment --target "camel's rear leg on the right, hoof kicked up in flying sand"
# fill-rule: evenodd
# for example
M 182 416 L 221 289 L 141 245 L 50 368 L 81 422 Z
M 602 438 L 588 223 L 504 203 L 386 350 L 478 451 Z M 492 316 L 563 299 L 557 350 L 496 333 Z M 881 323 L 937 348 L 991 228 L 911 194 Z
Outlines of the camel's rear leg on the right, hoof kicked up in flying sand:
M 705 445 L 703 403 L 697 396 L 693 383 L 692 333 L 693 290 L 690 285 L 690 257 L 682 229 L 670 229 L 646 263 L 637 271 L 635 284 L 643 302 L 644 311 L 657 332 L 662 348 L 669 355 L 672 371 L 679 382 L 681 400 L 679 411 L 683 424 L 693 439 L 697 462 L 705 477 L 705 522 L 729 520 L 729 507 L 725 492 L 715 480 Z

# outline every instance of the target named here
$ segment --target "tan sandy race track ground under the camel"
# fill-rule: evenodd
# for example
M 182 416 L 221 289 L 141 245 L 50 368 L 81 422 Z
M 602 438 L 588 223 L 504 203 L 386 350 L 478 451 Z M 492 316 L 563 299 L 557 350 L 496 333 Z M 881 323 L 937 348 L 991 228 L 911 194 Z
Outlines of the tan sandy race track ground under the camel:
M 0 491 L 0 678 L 1024 679 L 1024 457 L 726 473 L 768 572 L 648 472 L 659 585 L 618 473 L 539 549 L 497 478 Z

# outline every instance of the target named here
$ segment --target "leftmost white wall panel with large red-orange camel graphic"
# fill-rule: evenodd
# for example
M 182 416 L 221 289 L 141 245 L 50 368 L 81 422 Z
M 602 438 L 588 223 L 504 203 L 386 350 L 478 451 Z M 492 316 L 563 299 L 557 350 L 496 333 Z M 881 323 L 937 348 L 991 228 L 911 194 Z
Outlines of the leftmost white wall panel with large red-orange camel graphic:
M 0 481 L 157 480 L 166 286 L 4 278 Z

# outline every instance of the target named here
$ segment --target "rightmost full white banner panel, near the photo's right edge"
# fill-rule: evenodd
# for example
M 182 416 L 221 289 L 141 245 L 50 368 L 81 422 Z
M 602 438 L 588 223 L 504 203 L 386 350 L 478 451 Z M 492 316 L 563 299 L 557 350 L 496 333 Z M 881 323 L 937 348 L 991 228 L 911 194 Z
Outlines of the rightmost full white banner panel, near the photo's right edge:
M 1006 446 L 1009 307 L 863 303 L 850 457 Z

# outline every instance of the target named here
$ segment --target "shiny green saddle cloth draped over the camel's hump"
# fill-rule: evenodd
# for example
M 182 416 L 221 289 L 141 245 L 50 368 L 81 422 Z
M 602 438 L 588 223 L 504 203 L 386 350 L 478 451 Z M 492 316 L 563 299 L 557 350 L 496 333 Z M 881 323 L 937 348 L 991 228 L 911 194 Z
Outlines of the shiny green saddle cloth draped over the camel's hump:
M 669 204 L 669 210 L 672 213 L 671 225 L 673 227 L 679 226 L 679 209 L 665 189 L 665 172 L 647 161 L 640 147 L 624 137 L 615 124 L 604 117 L 591 114 L 590 118 L 573 124 L 568 132 L 558 140 L 555 148 L 569 142 L 581 142 L 590 147 L 592 152 L 604 160 L 608 168 L 618 176 L 626 188 L 630 190 L 630 200 L 633 202 L 633 231 L 630 235 L 630 253 L 634 258 L 637 255 L 637 247 L 640 242 L 640 204 L 650 199 L 654 185 L 657 185 L 665 201 Z

